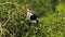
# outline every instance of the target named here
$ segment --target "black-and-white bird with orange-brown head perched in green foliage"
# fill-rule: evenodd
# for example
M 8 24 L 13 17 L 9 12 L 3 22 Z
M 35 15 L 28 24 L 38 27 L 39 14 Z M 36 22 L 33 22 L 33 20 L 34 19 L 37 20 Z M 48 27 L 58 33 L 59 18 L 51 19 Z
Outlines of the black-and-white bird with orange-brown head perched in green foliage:
M 31 12 L 31 8 L 30 8 L 29 3 L 26 4 L 26 10 L 27 10 L 27 17 L 30 20 L 30 22 L 38 23 L 39 17 L 38 17 L 38 15 L 36 15 Z

